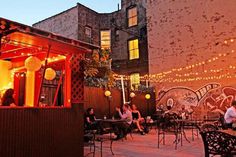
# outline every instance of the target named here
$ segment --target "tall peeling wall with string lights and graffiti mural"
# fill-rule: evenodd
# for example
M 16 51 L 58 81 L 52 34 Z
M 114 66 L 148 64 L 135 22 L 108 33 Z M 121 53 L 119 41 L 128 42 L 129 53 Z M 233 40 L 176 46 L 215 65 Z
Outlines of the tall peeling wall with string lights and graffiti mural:
M 149 73 L 159 104 L 223 113 L 235 100 L 235 9 L 234 0 L 148 1 Z

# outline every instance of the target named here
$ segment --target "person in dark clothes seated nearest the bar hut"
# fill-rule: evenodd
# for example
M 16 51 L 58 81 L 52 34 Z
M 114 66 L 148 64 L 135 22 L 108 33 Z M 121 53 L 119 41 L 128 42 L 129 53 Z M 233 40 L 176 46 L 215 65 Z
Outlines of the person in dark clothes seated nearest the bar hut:
M 85 129 L 96 130 L 97 123 L 93 108 L 88 108 L 85 114 Z

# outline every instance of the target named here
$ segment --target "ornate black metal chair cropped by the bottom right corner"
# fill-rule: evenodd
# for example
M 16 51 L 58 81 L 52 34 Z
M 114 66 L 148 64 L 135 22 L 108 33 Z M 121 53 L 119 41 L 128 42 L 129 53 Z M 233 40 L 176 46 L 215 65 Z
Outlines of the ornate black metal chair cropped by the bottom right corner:
M 200 132 L 205 157 L 210 155 L 222 155 L 230 157 L 236 155 L 236 137 L 220 131 L 204 131 Z

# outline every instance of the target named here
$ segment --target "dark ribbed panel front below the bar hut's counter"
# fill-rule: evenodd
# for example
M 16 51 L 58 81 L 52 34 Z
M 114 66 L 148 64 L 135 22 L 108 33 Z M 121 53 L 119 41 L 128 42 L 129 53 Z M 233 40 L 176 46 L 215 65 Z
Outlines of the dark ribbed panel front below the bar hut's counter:
M 80 106 L 0 108 L 0 156 L 83 156 Z

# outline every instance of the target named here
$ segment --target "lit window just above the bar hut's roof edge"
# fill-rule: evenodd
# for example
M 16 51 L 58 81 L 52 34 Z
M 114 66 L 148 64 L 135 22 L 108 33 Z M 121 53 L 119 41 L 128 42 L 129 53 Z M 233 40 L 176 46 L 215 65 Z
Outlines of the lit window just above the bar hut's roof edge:
M 111 31 L 104 30 L 100 32 L 101 35 L 101 48 L 110 49 L 111 48 Z

